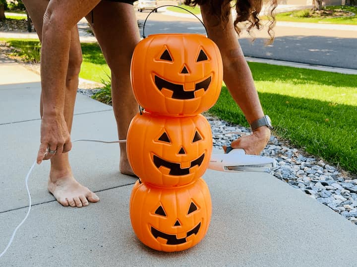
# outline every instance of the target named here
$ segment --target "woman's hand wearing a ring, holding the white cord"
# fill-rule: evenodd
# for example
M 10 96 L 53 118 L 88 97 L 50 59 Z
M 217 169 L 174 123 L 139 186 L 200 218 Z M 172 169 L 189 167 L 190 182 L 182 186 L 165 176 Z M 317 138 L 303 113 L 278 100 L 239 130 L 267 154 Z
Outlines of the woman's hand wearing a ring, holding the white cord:
M 56 154 L 66 153 L 72 148 L 70 135 L 63 114 L 47 115 L 41 121 L 41 145 L 37 164 L 51 159 Z

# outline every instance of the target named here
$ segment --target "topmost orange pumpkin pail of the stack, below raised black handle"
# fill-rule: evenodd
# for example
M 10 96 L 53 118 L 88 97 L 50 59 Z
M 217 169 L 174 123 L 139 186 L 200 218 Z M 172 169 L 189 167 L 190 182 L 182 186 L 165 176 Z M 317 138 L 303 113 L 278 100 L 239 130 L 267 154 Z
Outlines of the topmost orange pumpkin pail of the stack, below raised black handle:
M 211 108 L 222 87 L 217 45 L 198 34 L 155 34 L 131 59 L 131 85 L 138 103 L 165 116 L 196 115 Z

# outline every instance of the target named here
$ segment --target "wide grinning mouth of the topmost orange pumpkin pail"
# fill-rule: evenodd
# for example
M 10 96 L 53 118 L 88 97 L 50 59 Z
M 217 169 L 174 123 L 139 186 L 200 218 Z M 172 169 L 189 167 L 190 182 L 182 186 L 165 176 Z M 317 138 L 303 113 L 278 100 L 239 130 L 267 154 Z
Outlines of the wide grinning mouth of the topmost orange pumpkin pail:
M 202 96 L 211 84 L 211 75 L 199 83 L 175 84 L 155 75 L 155 85 L 166 96 L 174 99 L 192 99 Z M 203 90 L 202 90 L 203 89 Z

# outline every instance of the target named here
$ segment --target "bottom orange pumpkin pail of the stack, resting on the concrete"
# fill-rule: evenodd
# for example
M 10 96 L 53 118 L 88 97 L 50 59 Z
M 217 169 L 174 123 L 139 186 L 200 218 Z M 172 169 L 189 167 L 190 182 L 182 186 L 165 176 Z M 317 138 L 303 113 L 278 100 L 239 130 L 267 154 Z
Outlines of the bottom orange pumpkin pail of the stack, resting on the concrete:
M 202 178 L 178 187 L 137 181 L 130 197 L 130 220 L 145 245 L 167 252 L 193 247 L 205 236 L 212 204 Z

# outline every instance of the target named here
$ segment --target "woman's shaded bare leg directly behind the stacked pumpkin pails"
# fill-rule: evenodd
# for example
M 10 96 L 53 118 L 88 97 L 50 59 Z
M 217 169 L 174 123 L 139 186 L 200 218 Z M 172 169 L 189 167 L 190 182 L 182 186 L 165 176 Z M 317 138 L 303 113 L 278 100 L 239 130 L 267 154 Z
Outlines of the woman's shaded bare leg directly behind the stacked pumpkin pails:
M 86 16 L 92 22 L 92 14 Z M 101 1 L 93 10 L 95 36 L 112 72 L 112 100 L 119 139 L 125 139 L 138 104 L 130 84 L 130 62 L 135 45 L 140 41 L 133 6 L 127 3 Z M 120 143 L 119 170 L 133 172 L 126 157 L 126 145 Z

